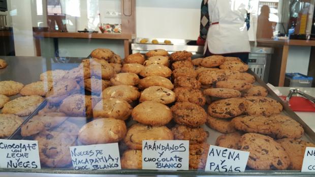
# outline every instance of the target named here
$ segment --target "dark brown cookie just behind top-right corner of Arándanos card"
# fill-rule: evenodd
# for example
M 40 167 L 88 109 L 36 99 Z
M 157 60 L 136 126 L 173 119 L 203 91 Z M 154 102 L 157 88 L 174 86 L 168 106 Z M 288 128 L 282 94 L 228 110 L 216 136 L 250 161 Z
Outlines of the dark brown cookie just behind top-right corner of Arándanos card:
M 185 125 L 175 125 L 172 128 L 174 139 L 189 140 L 189 144 L 199 144 L 207 140 L 209 133 L 201 127 L 191 128 Z

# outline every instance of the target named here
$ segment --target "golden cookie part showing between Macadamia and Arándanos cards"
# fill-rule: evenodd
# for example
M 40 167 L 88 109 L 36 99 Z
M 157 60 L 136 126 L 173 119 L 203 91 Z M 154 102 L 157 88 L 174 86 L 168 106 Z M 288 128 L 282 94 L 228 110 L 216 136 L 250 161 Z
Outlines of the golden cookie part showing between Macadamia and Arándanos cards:
M 120 159 L 122 169 L 142 169 L 142 151 L 127 150 Z

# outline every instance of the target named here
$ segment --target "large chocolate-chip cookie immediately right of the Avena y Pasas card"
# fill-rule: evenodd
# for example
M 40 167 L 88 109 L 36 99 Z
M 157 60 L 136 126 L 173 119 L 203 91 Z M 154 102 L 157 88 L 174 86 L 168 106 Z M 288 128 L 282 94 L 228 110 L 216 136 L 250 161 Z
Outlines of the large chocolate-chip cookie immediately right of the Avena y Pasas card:
M 288 153 L 269 136 L 246 133 L 241 136 L 238 149 L 248 151 L 247 166 L 257 170 L 284 170 L 290 165 Z

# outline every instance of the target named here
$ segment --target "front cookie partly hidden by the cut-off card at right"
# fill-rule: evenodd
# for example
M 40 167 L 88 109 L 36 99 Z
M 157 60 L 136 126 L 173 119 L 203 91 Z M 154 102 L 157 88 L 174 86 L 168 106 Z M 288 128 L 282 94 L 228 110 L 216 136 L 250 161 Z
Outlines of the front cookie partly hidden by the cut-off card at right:
M 291 160 L 289 169 L 301 170 L 306 147 L 315 147 L 314 144 L 301 139 L 283 138 L 277 140 L 285 148 Z

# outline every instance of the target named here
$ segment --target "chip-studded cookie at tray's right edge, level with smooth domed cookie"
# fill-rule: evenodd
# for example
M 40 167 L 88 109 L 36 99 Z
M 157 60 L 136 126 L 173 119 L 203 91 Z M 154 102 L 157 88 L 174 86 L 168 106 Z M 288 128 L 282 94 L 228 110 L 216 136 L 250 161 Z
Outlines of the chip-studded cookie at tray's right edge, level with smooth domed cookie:
M 244 99 L 248 115 L 271 116 L 273 114 L 279 114 L 283 109 L 282 105 L 272 98 L 263 96 L 246 96 Z

